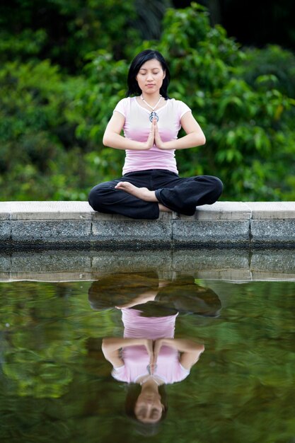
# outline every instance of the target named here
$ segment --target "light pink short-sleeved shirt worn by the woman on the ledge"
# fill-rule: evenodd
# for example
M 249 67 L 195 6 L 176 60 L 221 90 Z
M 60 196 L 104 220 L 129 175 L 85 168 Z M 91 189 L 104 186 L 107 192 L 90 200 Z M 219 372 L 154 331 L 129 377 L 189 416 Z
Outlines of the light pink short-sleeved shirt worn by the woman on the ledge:
M 137 142 L 146 142 L 151 130 L 149 115 L 151 110 L 143 108 L 137 102 L 136 97 L 123 98 L 117 103 L 115 110 L 125 117 L 123 127 L 127 139 Z M 190 108 L 180 100 L 168 99 L 162 108 L 156 110 L 158 114 L 158 130 L 163 142 L 170 142 L 178 138 L 180 120 Z M 146 169 L 168 169 L 178 173 L 175 161 L 175 150 L 164 151 L 155 145 L 148 151 L 126 150 L 123 174 L 133 171 L 144 171 Z

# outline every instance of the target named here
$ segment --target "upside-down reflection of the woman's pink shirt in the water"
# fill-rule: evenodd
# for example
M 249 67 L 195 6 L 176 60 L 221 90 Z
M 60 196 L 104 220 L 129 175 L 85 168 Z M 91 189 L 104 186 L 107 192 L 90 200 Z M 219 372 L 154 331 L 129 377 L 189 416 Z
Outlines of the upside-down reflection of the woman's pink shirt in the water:
M 175 318 L 167 317 L 142 317 L 136 309 L 122 309 L 125 338 L 173 338 Z M 149 355 L 145 346 L 128 346 L 122 350 L 124 365 L 112 370 L 112 376 L 120 381 L 136 383 L 140 376 L 148 375 Z M 179 361 L 178 350 L 170 346 L 162 346 L 157 359 L 154 372 L 163 379 L 165 384 L 181 381 L 190 374 Z

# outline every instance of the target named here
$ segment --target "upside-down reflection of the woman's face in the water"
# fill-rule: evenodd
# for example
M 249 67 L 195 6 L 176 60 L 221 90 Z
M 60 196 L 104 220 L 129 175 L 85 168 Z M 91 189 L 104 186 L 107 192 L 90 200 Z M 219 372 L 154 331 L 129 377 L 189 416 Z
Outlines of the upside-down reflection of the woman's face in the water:
M 156 423 L 161 420 L 163 404 L 159 393 L 140 393 L 135 403 L 134 414 L 143 423 Z

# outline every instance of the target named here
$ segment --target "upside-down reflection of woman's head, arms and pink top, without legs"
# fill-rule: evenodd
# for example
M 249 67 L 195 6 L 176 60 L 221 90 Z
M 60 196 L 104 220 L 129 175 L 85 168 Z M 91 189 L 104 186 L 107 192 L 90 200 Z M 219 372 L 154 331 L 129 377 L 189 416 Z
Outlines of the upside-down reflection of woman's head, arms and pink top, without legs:
M 112 364 L 115 379 L 139 387 L 132 401 L 127 397 L 129 415 L 141 423 L 155 424 L 163 420 L 167 410 L 162 388 L 190 374 L 204 345 L 174 338 L 178 313 L 144 317 L 137 309 L 121 309 L 124 338 L 104 338 L 103 354 Z

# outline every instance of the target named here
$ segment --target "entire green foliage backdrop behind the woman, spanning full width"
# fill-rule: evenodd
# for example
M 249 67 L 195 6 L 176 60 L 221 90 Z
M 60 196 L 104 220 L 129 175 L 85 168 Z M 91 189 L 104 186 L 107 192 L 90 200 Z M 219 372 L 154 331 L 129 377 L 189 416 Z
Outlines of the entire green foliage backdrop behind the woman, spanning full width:
M 93 185 L 120 176 L 124 153 L 104 147 L 103 132 L 125 96 L 127 59 L 146 47 L 167 57 L 170 96 L 190 105 L 207 137 L 205 146 L 177 152 L 180 173 L 218 176 L 224 200 L 295 199 L 293 54 L 241 50 L 197 4 L 168 9 L 161 39 L 139 45 L 138 34 L 129 37 L 139 17 L 131 0 L 45 2 L 68 33 L 57 46 L 51 28 L 33 28 L 31 6 L 21 4 L 23 40 L 11 45 L 7 19 L 0 43 L 1 200 L 86 200 Z M 65 74 L 54 60 L 83 68 Z

